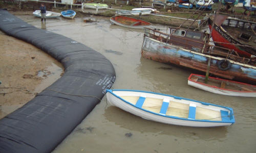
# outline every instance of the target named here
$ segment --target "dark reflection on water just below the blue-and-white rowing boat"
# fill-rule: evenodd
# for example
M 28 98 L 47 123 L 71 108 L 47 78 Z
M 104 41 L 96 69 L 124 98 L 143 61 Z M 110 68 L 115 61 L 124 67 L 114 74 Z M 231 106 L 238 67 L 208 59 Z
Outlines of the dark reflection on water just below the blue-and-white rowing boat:
M 114 106 L 108 107 L 103 115 L 107 120 L 114 122 L 124 129 L 139 131 L 141 133 L 157 133 L 159 135 L 176 136 L 179 138 L 190 137 L 194 140 L 218 140 L 225 138 L 227 133 L 227 127 L 224 126 L 195 128 L 150 121 Z M 177 133 L 177 131 L 179 132 Z M 211 134 L 209 135 L 209 133 Z

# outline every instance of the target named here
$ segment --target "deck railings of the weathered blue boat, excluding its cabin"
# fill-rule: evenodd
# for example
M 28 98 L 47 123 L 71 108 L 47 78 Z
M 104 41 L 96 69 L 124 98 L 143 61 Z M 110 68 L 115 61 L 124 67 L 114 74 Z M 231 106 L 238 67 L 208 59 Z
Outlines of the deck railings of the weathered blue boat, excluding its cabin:
M 172 35 L 172 34 L 166 34 L 166 33 L 157 31 L 155 29 L 145 28 L 144 36 L 153 38 L 155 40 L 161 41 L 161 42 L 166 43 L 166 44 L 176 42 L 176 43 L 179 43 L 180 46 L 182 46 L 182 47 L 184 47 L 185 45 L 188 45 L 185 42 L 175 41 L 174 39 L 172 39 L 174 37 L 180 38 L 179 36 L 175 36 L 175 35 Z M 224 48 L 224 47 L 221 47 L 221 46 L 215 46 L 215 45 L 209 44 L 208 37 L 207 37 L 206 42 L 191 40 L 191 39 L 188 39 L 188 38 L 185 38 L 185 37 L 183 37 L 182 39 L 186 40 L 186 41 L 194 41 L 197 44 L 198 43 L 203 44 L 203 47 L 196 46 L 196 45 L 193 45 L 193 44 L 189 44 L 189 46 L 191 46 L 191 47 L 199 48 L 200 53 L 207 54 L 207 55 L 219 56 L 219 57 L 223 57 L 223 58 L 226 58 L 226 59 L 238 61 L 238 62 L 241 62 L 241 63 L 244 63 L 244 64 L 250 64 L 251 62 L 253 62 L 252 65 L 254 65 L 255 61 L 251 61 L 251 59 L 248 59 L 248 58 L 240 57 L 238 55 L 238 53 L 236 51 L 232 50 L 232 49 L 227 49 L 227 48 Z M 195 51 L 195 50 L 193 50 L 193 51 Z M 198 52 L 198 50 L 195 51 L 195 52 Z

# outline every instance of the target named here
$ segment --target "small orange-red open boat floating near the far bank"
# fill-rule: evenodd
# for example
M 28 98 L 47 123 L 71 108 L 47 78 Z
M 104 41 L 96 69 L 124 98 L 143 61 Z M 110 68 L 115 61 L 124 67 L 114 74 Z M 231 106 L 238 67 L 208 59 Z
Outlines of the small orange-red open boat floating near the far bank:
M 116 25 L 134 29 L 143 29 L 145 27 L 151 26 L 150 22 L 119 15 L 111 17 L 110 21 Z

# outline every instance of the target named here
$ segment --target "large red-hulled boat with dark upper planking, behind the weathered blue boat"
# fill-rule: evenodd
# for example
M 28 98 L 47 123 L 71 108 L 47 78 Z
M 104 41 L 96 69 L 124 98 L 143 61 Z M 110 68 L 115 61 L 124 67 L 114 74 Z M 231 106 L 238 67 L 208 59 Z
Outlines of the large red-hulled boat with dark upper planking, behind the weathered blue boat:
M 214 17 L 208 19 L 209 28 Z M 235 50 L 240 56 L 256 56 L 256 22 L 218 15 L 212 29 L 211 37 L 215 44 Z

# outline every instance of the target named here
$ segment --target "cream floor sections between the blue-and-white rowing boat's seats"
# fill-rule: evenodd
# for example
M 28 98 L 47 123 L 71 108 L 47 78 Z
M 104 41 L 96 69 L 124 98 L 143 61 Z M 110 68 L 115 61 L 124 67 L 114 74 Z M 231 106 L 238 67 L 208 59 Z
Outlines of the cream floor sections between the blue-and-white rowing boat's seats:
M 139 96 L 120 96 L 120 97 L 133 105 L 136 105 L 139 99 Z M 145 109 L 154 113 L 160 113 L 162 103 L 163 103 L 163 99 L 146 97 L 143 103 L 142 109 Z M 176 116 L 180 118 L 188 118 L 188 110 L 189 110 L 188 104 L 179 103 L 171 100 L 169 101 L 169 106 L 166 111 L 166 115 Z M 196 119 L 221 121 L 221 112 L 198 106 L 196 108 Z

